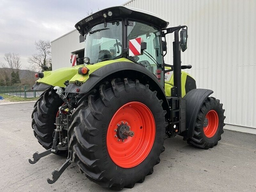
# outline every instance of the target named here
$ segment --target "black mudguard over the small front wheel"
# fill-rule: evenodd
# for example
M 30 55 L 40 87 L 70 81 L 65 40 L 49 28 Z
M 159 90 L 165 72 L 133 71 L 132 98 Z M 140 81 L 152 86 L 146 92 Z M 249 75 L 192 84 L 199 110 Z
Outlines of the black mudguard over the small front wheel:
M 206 98 L 213 93 L 209 89 L 193 89 L 189 91 L 184 99 L 186 100 L 186 125 L 187 132 L 184 133 L 185 138 L 190 138 L 194 134 L 197 114 L 202 107 Z

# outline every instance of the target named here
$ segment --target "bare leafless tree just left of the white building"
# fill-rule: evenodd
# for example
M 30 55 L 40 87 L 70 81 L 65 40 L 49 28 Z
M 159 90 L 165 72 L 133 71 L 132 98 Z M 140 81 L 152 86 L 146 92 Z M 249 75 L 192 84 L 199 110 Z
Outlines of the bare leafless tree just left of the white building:
M 35 41 L 36 50 L 38 52 L 33 53 L 28 57 L 28 62 L 36 64 L 43 69 L 44 66 L 50 67 L 52 63 L 51 43 L 49 40 Z

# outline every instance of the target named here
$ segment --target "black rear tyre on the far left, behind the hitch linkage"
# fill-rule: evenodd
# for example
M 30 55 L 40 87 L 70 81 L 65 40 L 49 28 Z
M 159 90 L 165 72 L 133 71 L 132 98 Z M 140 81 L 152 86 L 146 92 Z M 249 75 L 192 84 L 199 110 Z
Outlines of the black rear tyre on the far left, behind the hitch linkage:
M 52 88 L 46 90 L 36 101 L 32 112 L 32 129 L 38 142 L 45 148 L 50 149 L 53 142 L 53 131 L 56 129 L 56 115 L 63 101 Z M 64 154 L 66 151 L 58 151 Z

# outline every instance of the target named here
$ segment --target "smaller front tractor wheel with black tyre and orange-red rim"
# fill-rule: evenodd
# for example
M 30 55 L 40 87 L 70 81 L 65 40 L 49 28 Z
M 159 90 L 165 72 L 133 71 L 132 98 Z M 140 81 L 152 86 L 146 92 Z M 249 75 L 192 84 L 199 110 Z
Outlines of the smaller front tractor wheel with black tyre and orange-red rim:
M 216 146 L 224 132 L 224 111 L 220 100 L 208 97 L 199 110 L 194 135 L 187 140 L 188 144 L 202 149 Z

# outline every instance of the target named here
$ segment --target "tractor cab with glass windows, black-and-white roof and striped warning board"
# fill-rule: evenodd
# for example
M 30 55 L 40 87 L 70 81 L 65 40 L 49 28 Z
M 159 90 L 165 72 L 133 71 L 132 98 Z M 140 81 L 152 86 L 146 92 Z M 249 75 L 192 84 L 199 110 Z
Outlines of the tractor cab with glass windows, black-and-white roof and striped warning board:
M 168 21 L 132 7 L 110 7 L 79 21 L 85 64 L 127 58 L 157 76 L 163 65 L 162 29 Z M 160 79 L 160 78 L 159 78 Z

